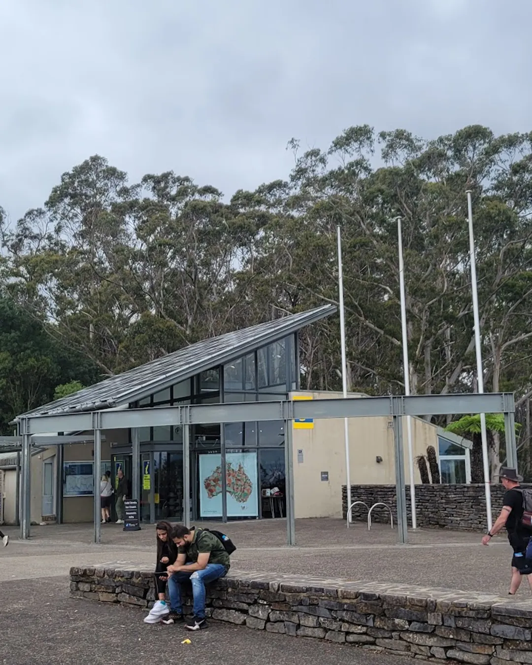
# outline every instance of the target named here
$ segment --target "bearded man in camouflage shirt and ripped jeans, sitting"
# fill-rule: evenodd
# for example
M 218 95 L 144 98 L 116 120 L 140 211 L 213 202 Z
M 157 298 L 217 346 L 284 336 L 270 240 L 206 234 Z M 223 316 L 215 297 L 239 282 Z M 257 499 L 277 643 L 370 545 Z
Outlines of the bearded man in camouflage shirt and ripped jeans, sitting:
M 168 594 L 170 614 L 163 623 L 173 624 L 183 620 L 180 585 L 190 580 L 194 597 L 194 616 L 186 624 L 188 630 L 207 628 L 205 621 L 205 584 L 224 577 L 229 571 L 229 555 L 221 541 L 203 529 L 188 529 L 177 525 L 170 537 L 178 546 L 176 563 L 168 566 Z

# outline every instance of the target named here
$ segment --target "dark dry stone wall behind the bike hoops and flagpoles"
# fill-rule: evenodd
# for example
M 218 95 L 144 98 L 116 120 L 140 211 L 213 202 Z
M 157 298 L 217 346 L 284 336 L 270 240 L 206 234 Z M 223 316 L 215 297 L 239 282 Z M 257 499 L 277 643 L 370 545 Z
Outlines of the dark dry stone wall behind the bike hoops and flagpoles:
M 532 487 L 532 485 L 523 485 Z M 342 513 L 347 512 L 346 486 L 342 487 Z M 491 485 L 493 521 L 502 507 L 504 488 Z M 392 509 L 394 521 L 397 517 L 395 485 L 352 485 L 352 501 L 364 501 L 371 507 L 382 501 Z M 406 486 L 406 509 L 410 522 L 410 487 Z M 352 511 L 355 521 L 366 521 L 368 511 L 364 506 L 355 506 Z M 484 485 L 416 485 L 416 518 L 418 527 L 448 528 L 458 531 L 485 531 L 486 501 Z M 376 507 L 371 513 L 374 522 L 390 521 L 390 513 Z

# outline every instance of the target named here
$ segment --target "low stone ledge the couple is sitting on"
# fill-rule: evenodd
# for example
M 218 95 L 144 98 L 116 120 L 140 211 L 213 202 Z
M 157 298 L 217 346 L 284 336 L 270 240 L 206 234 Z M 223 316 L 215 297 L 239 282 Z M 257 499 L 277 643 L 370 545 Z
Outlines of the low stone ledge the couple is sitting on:
M 74 567 L 70 596 L 148 609 L 156 599 L 153 569 L 120 562 Z M 190 595 L 184 604 L 190 610 Z M 231 569 L 207 586 L 206 610 L 215 620 L 255 630 L 434 662 L 532 665 L 532 600 Z

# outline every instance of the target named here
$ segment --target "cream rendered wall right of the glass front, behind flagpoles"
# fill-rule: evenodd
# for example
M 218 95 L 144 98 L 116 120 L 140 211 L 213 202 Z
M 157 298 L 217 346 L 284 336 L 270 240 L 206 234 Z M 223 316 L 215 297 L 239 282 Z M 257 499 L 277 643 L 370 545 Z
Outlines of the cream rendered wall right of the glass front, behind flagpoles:
M 340 392 L 294 392 L 314 400 L 341 398 Z M 364 399 L 350 394 L 352 399 Z M 394 435 L 392 418 L 350 418 L 348 423 L 350 475 L 352 485 L 395 484 Z M 404 466 L 406 483 L 410 481 L 406 418 L 404 419 Z M 427 446 L 437 449 L 436 427 L 419 418 L 412 418 L 414 460 L 426 454 Z M 303 462 L 298 461 L 298 451 Z M 377 457 L 382 462 L 376 462 Z M 342 485 L 346 484 L 343 418 L 319 418 L 313 430 L 293 429 L 294 494 L 296 517 L 341 517 Z M 329 480 L 321 480 L 321 472 Z M 414 481 L 421 482 L 417 466 Z M 355 499 L 356 497 L 353 497 Z

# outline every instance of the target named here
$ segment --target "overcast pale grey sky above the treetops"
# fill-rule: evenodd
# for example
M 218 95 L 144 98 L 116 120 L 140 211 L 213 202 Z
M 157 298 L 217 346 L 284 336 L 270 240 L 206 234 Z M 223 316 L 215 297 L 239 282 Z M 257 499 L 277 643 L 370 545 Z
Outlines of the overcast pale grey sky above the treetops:
M 3 0 L 0 205 L 92 154 L 229 197 L 354 124 L 532 130 L 531 0 Z

